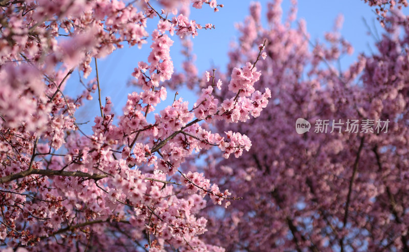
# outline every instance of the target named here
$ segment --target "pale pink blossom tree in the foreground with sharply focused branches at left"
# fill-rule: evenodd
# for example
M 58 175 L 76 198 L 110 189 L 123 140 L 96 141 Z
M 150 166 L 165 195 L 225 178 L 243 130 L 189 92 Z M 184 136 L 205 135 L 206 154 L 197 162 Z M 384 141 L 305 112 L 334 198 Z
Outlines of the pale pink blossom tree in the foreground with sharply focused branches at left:
M 210 200 L 231 200 L 203 174 L 181 170 L 185 159 L 217 147 L 240 156 L 251 142 L 238 132 L 211 132 L 206 121 L 246 121 L 267 105 L 270 90 L 256 91 L 258 56 L 237 65 L 219 100 L 215 81 L 195 104 L 182 98 L 149 113 L 167 97 L 173 74 L 173 37 L 195 37 L 211 24 L 186 14 L 222 8 L 197 1 L 0 1 L 0 243 L 6 251 L 223 251 L 200 235 L 199 213 Z M 148 33 L 148 23 L 156 29 Z M 150 41 L 148 45 L 148 41 Z M 185 42 L 188 43 L 188 42 Z M 150 50 L 135 65 L 135 91 L 123 113 L 101 97 L 99 58 L 138 45 Z M 80 71 L 83 92 L 70 97 L 67 79 Z M 96 78 L 84 83 L 90 74 Z M 84 81 L 83 81 L 84 78 Z M 65 93 L 65 94 L 64 94 Z M 98 96 L 89 114 L 92 133 L 76 110 Z M 262 102 L 261 106 L 253 106 Z M 245 112 L 243 112 L 244 110 Z M 238 112 L 240 111 L 240 112 Z M 234 116 L 232 116 L 234 114 Z

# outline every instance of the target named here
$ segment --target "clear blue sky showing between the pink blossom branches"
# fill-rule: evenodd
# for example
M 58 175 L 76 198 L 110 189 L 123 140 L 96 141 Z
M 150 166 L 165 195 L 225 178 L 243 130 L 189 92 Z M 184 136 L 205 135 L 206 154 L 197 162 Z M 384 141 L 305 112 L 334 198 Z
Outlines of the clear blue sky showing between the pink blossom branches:
M 200 10 L 192 9 L 190 17 L 195 19 L 198 24 L 206 24 L 211 22 L 216 29 L 200 30 L 199 35 L 193 39 L 194 53 L 197 56 L 196 65 L 199 72 L 209 69 L 215 65 L 218 69 L 224 71 L 228 63 L 228 51 L 231 41 L 237 40 L 239 35 L 235 29 L 235 24 L 242 22 L 249 14 L 248 6 L 252 1 L 247 0 L 218 0 L 218 4 L 223 4 L 224 8 L 220 8 L 219 12 L 213 12 L 213 9 L 203 5 Z M 262 5 L 262 17 L 265 22 L 265 9 L 267 0 L 259 1 Z M 290 6 L 289 0 L 284 0 L 282 4 L 284 16 L 288 12 Z M 341 30 L 343 36 L 351 42 L 354 47 L 354 54 L 351 57 L 344 58 L 343 66 L 352 63 L 360 52 L 370 53 L 370 47 L 374 48 L 374 39 L 368 35 L 368 28 L 363 22 L 363 18 L 373 29 L 381 32 L 382 29 L 375 20 L 376 15 L 374 9 L 360 0 L 301 0 L 298 5 L 298 19 L 305 19 L 307 22 L 307 31 L 310 34 L 310 39 L 322 39 L 326 31 L 331 31 L 334 20 L 338 14 L 344 15 L 344 26 Z M 156 17 L 157 19 L 157 17 Z M 148 32 L 152 31 L 157 23 L 157 20 L 148 20 Z M 179 54 L 181 47 L 179 39 L 174 36 L 172 40 L 175 41 L 171 48 L 171 57 L 174 60 L 175 70 L 180 69 L 180 64 L 183 61 L 183 56 Z M 150 43 L 150 38 L 149 38 Z M 132 91 L 140 91 L 136 87 L 127 86 L 126 83 L 131 77 L 133 68 L 137 66 L 139 61 L 147 61 L 150 48 L 149 44 L 144 44 L 142 49 L 138 47 L 129 48 L 128 45 L 124 49 L 117 50 L 113 54 L 104 59 L 98 59 L 98 70 L 101 83 L 101 97 L 104 101 L 105 97 L 110 97 L 114 104 L 117 116 L 120 116 L 122 107 L 126 103 L 127 94 Z M 94 62 L 92 62 L 94 67 Z M 89 78 L 95 76 L 95 71 Z M 78 84 L 78 74 L 74 73 L 67 83 L 65 92 L 69 94 L 80 93 L 81 85 Z M 164 104 L 160 104 L 158 109 L 169 105 L 173 101 L 175 91 L 168 90 L 168 100 Z M 195 95 L 188 90 L 178 90 L 178 93 L 184 100 L 193 102 L 196 100 Z M 179 96 L 179 97 L 180 97 Z M 83 108 L 77 113 L 77 122 L 91 120 L 88 125 L 83 125 L 82 128 L 90 132 L 90 126 L 94 116 L 98 115 L 98 95 L 94 94 L 93 101 L 86 101 Z M 155 112 L 158 112 L 158 109 Z M 153 114 L 150 118 L 152 118 Z

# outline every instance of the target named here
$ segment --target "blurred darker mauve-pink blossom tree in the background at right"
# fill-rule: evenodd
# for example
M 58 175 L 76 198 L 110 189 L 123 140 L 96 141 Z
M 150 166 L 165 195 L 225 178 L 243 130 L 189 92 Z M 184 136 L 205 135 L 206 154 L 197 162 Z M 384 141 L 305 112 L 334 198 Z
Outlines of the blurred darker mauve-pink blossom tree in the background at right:
M 353 52 L 339 32 L 342 18 L 324 41 L 311 41 L 295 1 L 284 21 L 280 4 L 266 6 L 265 27 L 261 5 L 251 5 L 229 70 L 216 72 L 216 80 L 233 80 L 229 73 L 267 41 L 254 87 L 271 90 L 268 106 L 260 117 L 213 128 L 247 135 L 252 148 L 237 159 L 213 152 L 206 165 L 196 162 L 198 172 L 243 197 L 224 211 L 203 209 L 204 240 L 226 251 L 409 251 L 409 18 L 389 8 L 379 17 L 377 51 L 340 67 Z M 215 97 L 229 97 L 228 89 Z M 309 132 L 296 132 L 298 118 L 311 123 Z M 316 127 L 323 120 L 328 131 Z M 352 120 L 362 127 L 351 130 Z

